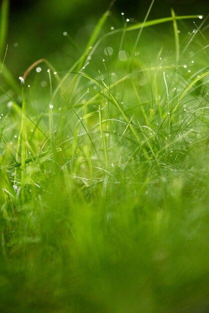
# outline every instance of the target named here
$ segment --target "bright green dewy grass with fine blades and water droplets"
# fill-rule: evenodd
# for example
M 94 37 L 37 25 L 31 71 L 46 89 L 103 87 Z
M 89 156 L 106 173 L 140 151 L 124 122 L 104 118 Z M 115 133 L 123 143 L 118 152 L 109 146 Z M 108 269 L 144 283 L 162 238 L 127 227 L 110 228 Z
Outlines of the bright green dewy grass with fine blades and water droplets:
M 207 19 L 109 15 L 66 72 L 2 66 L 2 313 L 209 309 Z

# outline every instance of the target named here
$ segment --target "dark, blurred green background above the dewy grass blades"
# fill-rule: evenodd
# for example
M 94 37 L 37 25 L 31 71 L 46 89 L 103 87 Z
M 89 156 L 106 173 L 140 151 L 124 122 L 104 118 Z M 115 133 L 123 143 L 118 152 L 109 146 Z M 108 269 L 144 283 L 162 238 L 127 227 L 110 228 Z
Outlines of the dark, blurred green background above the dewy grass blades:
M 68 63 L 65 64 L 62 60 L 62 64 L 59 64 L 66 44 L 63 31 L 67 31 L 78 44 L 78 57 L 93 25 L 109 3 L 109 0 L 10 0 L 6 56 L 8 68 L 18 76 L 41 57 L 48 58 L 58 68 L 68 66 L 69 59 Z M 116 0 L 108 22 L 114 27 L 121 27 L 122 11 L 125 17 L 134 18 L 133 22 L 142 21 L 150 3 L 151 0 Z M 171 7 L 177 15 L 207 15 L 209 1 L 155 0 L 148 19 L 170 16 Z M 89 30 L 82 33 L 85 25 L 89 25 Z

